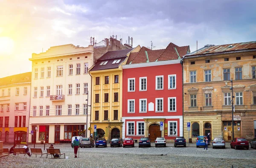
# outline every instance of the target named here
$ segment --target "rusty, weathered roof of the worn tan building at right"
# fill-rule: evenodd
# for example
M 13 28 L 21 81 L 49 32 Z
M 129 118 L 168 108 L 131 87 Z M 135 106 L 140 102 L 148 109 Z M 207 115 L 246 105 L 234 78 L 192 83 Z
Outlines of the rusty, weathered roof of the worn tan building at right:
M 256 41 L 253 42 L 240 42 L 225 45 L 205 45 L 197 51 L 186 54 L 186 57 L 190 56 L 204 56 L 204 55 L 216 55 L 230 52 L 242 52 L 256 49 Z

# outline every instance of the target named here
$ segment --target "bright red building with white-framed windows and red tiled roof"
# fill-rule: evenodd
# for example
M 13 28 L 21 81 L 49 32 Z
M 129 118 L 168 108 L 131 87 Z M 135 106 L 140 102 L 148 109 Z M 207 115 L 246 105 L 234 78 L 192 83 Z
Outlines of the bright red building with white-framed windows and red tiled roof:
M 189 46 L 170 43 L 166 49 L 142 47 L 123 65 L 122 137 L 183 136 L 181 57 Z M 163 122 L 163 131 L 160 127 Z

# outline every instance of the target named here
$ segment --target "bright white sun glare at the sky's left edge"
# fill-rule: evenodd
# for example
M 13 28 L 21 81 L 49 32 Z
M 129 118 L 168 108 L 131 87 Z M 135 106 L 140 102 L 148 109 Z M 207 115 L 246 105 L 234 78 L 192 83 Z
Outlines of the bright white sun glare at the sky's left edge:
M 14 49 L 14 42 L 9 37 L 0 37 L 0 54 L 12 54 Z

